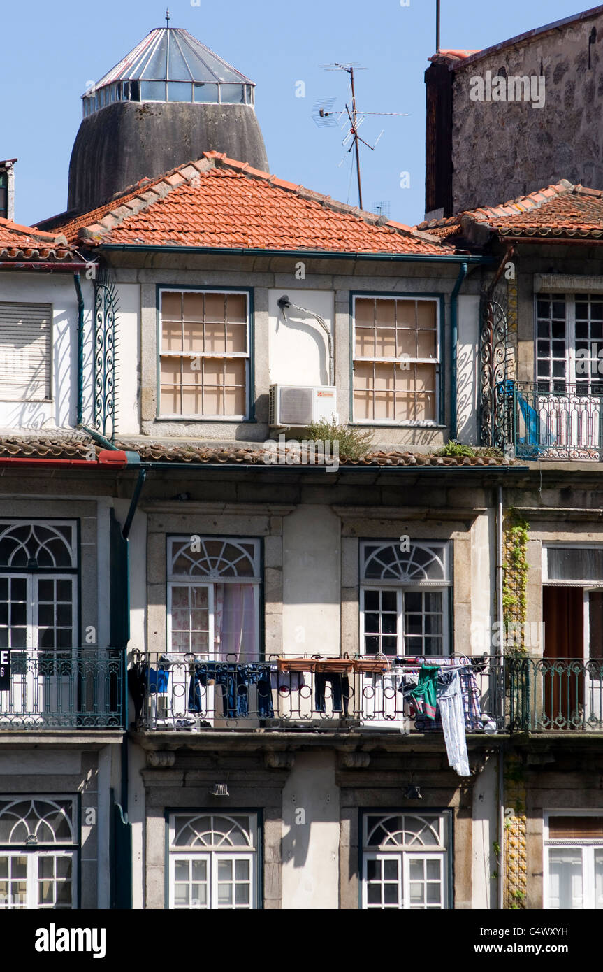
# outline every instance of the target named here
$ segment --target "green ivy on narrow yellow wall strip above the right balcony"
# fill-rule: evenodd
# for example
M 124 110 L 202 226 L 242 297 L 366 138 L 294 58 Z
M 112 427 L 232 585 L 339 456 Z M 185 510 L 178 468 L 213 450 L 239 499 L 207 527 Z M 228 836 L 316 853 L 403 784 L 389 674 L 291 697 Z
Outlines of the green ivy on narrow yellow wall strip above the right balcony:
M 527 588 L 529 524 L 512 506 L 507 510 L 503 537 L 503 621 L 513 632 L 514 651 L 525 651 L 524 628 Z

